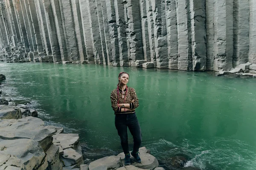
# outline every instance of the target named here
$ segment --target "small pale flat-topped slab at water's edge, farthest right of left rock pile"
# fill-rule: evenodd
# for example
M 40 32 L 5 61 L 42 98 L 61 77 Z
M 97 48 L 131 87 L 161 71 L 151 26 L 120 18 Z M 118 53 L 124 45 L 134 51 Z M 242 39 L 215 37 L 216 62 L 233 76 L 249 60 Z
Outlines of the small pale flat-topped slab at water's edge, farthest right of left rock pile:
M 64 133 L 59 133 L 56 135 L 53 135 L 53 143 L 55 145 L 61 145 L 62 149 L 65 150 L 69 147 L 75 148 L 76 145 L 79 143 L 79 135 L 78 134 L 64 134 Z

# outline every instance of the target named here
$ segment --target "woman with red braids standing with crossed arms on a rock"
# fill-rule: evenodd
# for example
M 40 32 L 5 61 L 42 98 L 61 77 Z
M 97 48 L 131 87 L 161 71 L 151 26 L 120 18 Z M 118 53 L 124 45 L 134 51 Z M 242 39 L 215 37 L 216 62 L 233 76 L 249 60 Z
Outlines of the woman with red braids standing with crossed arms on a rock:
M 119 83 L 117 88 L 111 92 L 111 104 L 115 112 L 115 125 L 118 135 L 121 139 L 122 149 L 125 153 L 125 165 L 130 165 L 130 152 L 128 147 L 127 127 L 129 128 L 133 139 L 134 147 L 131 156 L 135 161 L 141 162 L 139 148 L 141 144 L 141 130 L 135 108 L 139 106 L 139 100 L 134 88 L 128 87 L 129 74 L 121 72 L 118 76 Z

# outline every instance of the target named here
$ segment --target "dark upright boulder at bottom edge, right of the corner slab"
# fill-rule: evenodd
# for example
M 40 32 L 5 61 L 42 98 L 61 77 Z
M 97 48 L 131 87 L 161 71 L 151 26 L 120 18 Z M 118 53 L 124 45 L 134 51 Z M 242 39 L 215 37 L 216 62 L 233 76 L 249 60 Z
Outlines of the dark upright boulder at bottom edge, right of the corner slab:
M 47 170 L 62 170 L 62 163 L 59 159 L 59 147 L 52 144 L 46 151 L 48 167 Z

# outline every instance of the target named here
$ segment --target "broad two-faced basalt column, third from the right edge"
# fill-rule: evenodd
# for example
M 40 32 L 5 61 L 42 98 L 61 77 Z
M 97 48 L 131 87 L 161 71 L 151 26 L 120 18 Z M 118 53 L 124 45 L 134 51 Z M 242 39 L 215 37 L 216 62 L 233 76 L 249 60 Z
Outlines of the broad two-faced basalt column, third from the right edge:
M 233 0 L 214 3 L 214 63 L 213 70 L 232 68 L 233 60 Z

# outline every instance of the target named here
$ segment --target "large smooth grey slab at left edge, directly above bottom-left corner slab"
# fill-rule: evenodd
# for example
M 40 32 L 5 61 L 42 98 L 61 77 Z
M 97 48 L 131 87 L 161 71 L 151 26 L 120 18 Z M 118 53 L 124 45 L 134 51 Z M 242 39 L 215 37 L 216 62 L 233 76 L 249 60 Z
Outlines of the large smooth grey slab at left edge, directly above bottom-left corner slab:
M 33 139 L 41 145 L 44 151 L 47 151 L 52 144 L 52 136 L 51 132 L 43 125 L 44 121 L 32 116 L 17 120 L 0 120 L 0 138 Z

